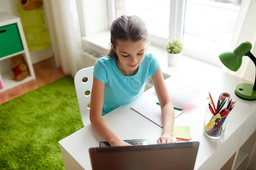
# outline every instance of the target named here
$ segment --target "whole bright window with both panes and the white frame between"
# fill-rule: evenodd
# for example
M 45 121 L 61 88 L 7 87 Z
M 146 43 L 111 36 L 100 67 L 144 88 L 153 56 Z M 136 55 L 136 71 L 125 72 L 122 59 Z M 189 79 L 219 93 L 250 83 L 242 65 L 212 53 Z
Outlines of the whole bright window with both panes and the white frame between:
M 113 10 L 116 17 L 141 17 L 152 43 L 163 46 L 177 38 L 185 55 L 218 64 L 218 54 L 229 49 L 240 6 L 241 0 L 115 0 Z

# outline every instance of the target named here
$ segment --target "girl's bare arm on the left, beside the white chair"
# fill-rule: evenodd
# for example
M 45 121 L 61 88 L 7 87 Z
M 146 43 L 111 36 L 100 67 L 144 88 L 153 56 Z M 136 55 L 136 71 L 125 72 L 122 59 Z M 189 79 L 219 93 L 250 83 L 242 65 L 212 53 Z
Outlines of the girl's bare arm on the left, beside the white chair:
M 120 139 L 102 117 L 105 84 L 93 77 L 93 88 L 90 101 L 90 122 L 93 128 L 111 145 L 130 145 Z

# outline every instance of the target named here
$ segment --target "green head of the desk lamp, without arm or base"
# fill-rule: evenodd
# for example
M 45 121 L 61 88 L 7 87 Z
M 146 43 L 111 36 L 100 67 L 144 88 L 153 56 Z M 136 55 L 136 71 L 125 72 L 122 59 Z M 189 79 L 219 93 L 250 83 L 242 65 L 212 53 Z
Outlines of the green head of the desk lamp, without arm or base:
M 242 42 L 234 51 L 225 51 L 219 55 L 221 62 L 230 70 L 238 71 L 242 64 L 242 57 L 252 48 L 248 41 Z

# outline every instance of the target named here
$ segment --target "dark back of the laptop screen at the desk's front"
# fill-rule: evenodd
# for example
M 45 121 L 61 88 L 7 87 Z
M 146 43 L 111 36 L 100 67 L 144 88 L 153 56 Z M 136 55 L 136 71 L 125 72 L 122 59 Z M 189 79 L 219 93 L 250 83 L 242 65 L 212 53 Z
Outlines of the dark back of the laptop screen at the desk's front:
M 193 170 L 199 142 L 89 149 L 93 170 Z

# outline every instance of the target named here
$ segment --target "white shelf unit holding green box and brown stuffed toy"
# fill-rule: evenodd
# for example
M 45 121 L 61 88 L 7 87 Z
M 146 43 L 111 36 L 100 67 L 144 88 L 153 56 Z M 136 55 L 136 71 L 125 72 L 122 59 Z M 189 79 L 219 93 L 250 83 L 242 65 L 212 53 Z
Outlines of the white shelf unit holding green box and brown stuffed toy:
M 35 79 L 35 71 L 31 62 L 29 49 L 26 43 L 26 38 L 23 32 L 23 27 L 20 18 L 12 14 L 0 13 L 0 27 L 8 26 L 11 24 L 17 24 L 20 40 L 23 45 L 23 50 L 0 58 L 0 82 L 3 86 L 3 88 L 0 89 L 0 93 Z M 26 65 L 28 66 L 29 75 L 21 81 L 16 81 L 11 78 L 12 70 L 10 61 L 12 57 L 19 54 L 23 54 Z

